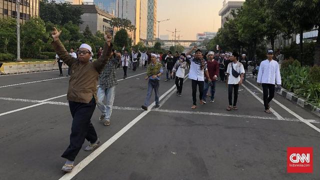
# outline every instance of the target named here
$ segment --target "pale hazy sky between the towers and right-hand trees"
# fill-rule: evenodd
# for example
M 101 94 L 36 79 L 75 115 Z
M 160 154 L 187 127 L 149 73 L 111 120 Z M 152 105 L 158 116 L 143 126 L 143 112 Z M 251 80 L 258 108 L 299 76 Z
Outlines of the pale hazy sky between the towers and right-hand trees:
M 177 31 L 181 30 L 176 33 L 180 34 L 180 39 L 195 40 L 196 33 L 216 32 L 221 27 L 218 12 L 222 8 L 222 2 L 223 0 L 157 0 L 157 20 L 170 19 L 160 22 L 160 35 L 168 34 L 169 39 L 172 39 L 172 33 L 166 29 L 174 31 L 176 28 Z M 156 28 L 158 29 L 158 23 Z

